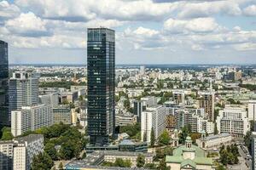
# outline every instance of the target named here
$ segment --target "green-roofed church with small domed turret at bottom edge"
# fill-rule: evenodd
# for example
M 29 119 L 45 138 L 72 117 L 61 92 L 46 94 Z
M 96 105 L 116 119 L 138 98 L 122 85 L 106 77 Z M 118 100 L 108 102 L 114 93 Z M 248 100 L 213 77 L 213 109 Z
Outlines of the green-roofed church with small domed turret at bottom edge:
M 173 150 L 173 156 L 166 156 L 166 166 L 171 169 L 215 169 L 212 158 L 207 158 L 205 150 L 192 144 L 189 136 L 184 145 Z

